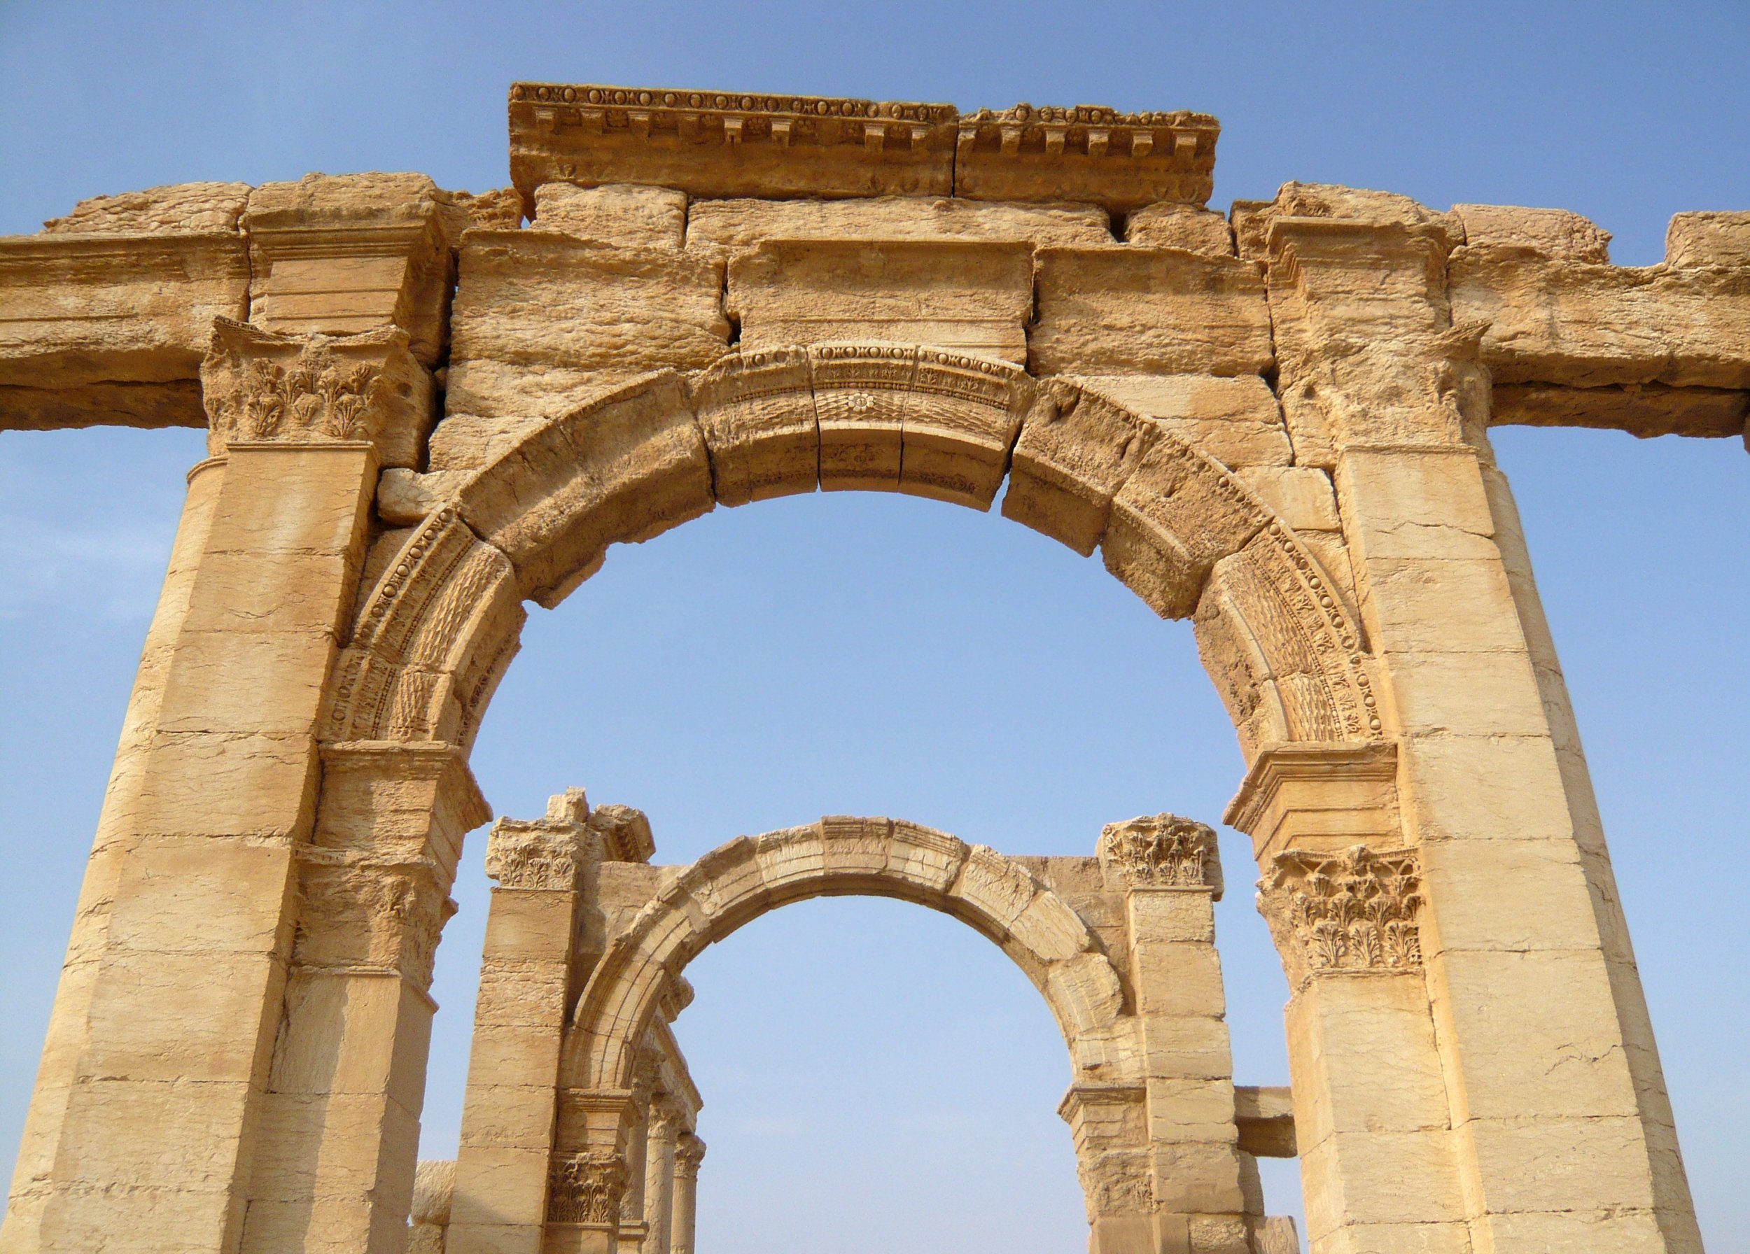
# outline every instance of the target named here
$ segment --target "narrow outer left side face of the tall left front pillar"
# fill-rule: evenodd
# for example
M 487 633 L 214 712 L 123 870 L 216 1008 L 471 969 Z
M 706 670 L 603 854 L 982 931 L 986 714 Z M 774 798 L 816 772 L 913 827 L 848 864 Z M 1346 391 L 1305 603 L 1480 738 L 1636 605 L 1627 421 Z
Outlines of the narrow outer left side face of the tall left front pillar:
M 75 1146 L 66 1146 L 63 1151 L 68 1104 L 80 1076 L 80 1058 L 93 1035 L 91 999 L 114 915 L 116 887 L 135 843 L 135 815 L 158 738 L 158 712 L 164 700 L 164 682 L 170 677 L 177 638 L 189 614 L 194 575 L 219 507 L 224 463 L 224 456 L 215 456 L 189 470 L 182 521 L 170 551 L 170 568 L 164 574 L 158 610 L 145 633 L 133 696 L 122 717 L 116 766 L 103 794 L 103 812 L 98 817 L 91 860 L 79 892 L 74 934 L 66 944 L 49 1035 L 24 1119 L 5 1224 L 0 1228 L 0 1247 L 9 1251 L 52 1249 L 52 1231 L 70 1219 L 66 1214 L 70 1198 L 65 1196 L 70 1160 L 65 1153 Z M 60 1184 L 58 1175 L 63 1177 Z

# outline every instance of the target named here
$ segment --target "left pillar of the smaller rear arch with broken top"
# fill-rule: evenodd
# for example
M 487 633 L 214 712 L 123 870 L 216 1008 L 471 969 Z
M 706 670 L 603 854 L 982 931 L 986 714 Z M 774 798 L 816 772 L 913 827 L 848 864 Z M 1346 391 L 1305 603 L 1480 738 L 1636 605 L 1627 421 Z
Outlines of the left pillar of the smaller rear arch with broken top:
M 497 880 L 474 1004 L 474 1042 L 448 1254 L 539 1254 L 558 1063 L 579 909 L 600 857 L 583 789 L 546 819 L 500 819 L 486 843 Z M 593 841 L 593 845 L 592 845 Z

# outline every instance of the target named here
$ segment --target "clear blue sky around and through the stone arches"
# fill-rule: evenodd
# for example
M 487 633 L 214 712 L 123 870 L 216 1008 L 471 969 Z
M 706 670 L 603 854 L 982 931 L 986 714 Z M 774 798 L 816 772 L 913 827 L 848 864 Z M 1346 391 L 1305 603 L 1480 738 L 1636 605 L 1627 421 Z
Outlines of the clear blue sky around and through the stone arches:
M 490 14 L 490 16 L 488 16 Z M 0 233 L 194 178 L 508 182 L 513 79 L 1110 103 L 1223 122 L 1216 203 L 1288 178 L 1561 205 L 1662 254 L 1750 208 L 1740 3 L 0 3 Z M 1743 857 L 1750 458 L 1736 441 L 1503 430 L 1578 707 L 1703 1231 L 1750 1251 Z M 10 1174 L 103 780 L 198 432 L 0 434 L 0 1170 Z M 822 812 L 1027 853 L 1214 820 L 1241 775 L 1183 624 L 1097 561 L 912 498 L 719 511 L 534 610 L 474 768 L 569 784 L 660 857 Z M 438 962 L 425 1153 L 455 1149 L 485 915 Z M 1220 906 L 1236 1070 L 1284 1083 L 1286 988 L 1242 838 Z M 1068 1254 L 1085 1242 L 1050 1016 L 968 929 L 882 901 L 770 915 L 691 969 L 709 1254 Z M 1295 1210 L 1292 1165 L 1267 1175 Z

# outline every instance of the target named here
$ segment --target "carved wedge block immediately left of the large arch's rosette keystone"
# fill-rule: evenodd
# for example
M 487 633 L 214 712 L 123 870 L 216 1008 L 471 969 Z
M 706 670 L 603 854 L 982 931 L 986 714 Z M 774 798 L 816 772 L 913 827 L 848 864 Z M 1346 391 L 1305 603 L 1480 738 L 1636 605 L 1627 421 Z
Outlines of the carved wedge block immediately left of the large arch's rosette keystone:
M 693 380 L 693 406 L 719 504 L 814 491 L 821 477 L 821 430 L 807 352 L 779 348 L 726 357 Z

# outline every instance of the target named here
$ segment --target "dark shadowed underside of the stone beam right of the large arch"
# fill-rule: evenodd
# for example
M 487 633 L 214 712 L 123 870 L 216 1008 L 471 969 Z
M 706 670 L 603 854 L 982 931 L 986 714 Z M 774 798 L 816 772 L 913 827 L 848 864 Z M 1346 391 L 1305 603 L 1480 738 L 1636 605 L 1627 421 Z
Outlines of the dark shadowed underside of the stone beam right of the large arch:
M 1750 418 L 1750 392 L 1659 383 L 1601 388 L 1507 383 L 1494 388 L 1491 401 L 1494 425 L 1603 427 L 1640 437 L 1732 437 L 1743 434 Z

